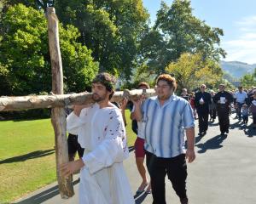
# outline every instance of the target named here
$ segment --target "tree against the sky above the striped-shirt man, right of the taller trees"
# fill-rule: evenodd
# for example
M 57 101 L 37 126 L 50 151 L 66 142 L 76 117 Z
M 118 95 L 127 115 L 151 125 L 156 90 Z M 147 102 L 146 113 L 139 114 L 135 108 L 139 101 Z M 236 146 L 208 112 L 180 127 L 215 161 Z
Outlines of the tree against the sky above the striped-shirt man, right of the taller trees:
M 157 74 L 184 53 L 201 53 L 203 60 L 218 61 L 225 56 L 224 49 L 219 48 L 219 36 L 223 35 L 221 29 L 207 26 L 192 14 L 189 0 L 174 0 L 171 7 L 162 2 L 153 30 L 143 39 L 151 39 L 143 44 L 143 58 Z

